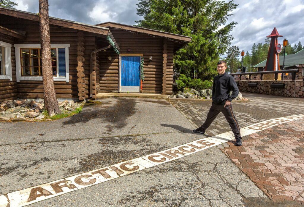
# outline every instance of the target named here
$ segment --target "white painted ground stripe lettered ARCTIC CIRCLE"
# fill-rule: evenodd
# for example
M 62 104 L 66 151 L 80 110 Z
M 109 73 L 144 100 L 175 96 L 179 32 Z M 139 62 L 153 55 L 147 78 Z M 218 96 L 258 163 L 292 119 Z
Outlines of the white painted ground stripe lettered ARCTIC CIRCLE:
M 304 114 L 263 121 L 240 129 L 241 136 L 256 133 L 278 124 L 303 119 Z M 87 173 L 52 181 L 39 186 L 0 195 L 0 207 L 25 206 L 64 193 L 93 186 L 111 179 L 128 175 L 146 168 L 179 159 L 190 154 L 206 150 L 234 139 L 232 131 L 216 136 L 199 139 L 161 152 L 131 159 L 111 166 L 95 169 Z

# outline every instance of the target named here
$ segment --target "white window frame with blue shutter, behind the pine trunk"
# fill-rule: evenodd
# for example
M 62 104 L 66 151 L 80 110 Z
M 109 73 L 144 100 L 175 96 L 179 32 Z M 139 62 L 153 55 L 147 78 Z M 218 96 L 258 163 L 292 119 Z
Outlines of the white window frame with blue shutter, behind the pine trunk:
M 66 81 L 70 82 L 69 78 L 69 47 L 70 44 L 51 44 L 51 48 L 56 48 L 56 58 L 58 60 L 58 48 L 65 48 L 65 77 L 54 76 L 54 81 Z M 40 48 L 40 44 L 15 44 L 15 53 L 16 53 L 16 79 L 17 82 L 20 80 L 42 80 L 42 76 L 21 76 L 21 56 L 20 48 Z M 58 70 L 58 61 L 57 61 L 57 70 Z

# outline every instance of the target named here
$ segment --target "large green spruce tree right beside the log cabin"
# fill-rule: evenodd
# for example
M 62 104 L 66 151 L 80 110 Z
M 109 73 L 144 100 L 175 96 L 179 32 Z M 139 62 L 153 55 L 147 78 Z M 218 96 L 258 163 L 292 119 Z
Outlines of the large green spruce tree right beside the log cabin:
M 237 8 L 232 1 L 217 0 L 139 0 L 137 14 L 144 19 L 137 26 L 191 36 L 192 41 L 174 56 L 176 72 L 203 80 L 216 74 L 219 55 L 233 39 L 230 32 L 237 24 L 227 22 Z M 221 26 L 225 25 L 223 28 Z

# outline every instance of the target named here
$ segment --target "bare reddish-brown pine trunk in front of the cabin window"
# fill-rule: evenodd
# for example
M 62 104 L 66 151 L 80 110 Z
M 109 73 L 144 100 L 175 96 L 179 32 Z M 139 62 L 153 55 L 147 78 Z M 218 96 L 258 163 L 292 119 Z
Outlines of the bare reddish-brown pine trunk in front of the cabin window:
M 50 24 L 49 24 L 49 3 L 48 0 L 39 0 L 39 31 L 42 59 L 42 79 L 44 92 L 44 108 L 49 115 L 61 113 L 53 80 L 51 62 Z

